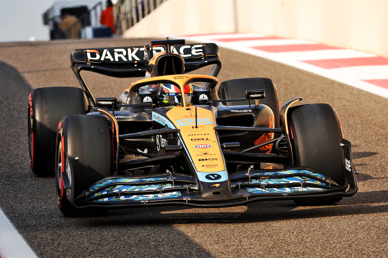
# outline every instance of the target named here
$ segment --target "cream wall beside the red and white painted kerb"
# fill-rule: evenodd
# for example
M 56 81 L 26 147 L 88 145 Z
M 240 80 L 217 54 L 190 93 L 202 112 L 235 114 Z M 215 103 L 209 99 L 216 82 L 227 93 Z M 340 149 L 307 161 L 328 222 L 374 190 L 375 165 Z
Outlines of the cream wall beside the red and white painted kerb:
M 168 0 L 125 38 L 255 32 L 388 57 L 387 0 Z

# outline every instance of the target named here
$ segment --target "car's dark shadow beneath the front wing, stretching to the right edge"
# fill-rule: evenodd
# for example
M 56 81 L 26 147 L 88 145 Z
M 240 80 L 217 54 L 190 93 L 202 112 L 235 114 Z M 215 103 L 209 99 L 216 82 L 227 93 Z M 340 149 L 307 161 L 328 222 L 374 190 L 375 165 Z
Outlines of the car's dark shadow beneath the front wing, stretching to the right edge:
M 298 206 L 293 201 L 256 202 L 228 208 L 180 206 L 113 210 L 104 223 L 115 225 L 164 225 L 190 223 L 249 223 L 290 219 L 338 217 L 388 212 L 388 191 L 359 192 L 334 205 Z M 99 224 L 99 218 L 88 221 Z

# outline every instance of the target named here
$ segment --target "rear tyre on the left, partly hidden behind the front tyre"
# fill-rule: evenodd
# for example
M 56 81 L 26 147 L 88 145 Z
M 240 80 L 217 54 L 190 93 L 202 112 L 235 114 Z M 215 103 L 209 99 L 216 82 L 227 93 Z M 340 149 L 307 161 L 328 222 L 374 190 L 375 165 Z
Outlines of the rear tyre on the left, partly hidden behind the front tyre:
M 31 170 L 37 176 L 54 176 L 55 137 L 59 121 L 70 114 L 85 114 L 82 89 L 47 87 L 28 97 L 28 147 Z

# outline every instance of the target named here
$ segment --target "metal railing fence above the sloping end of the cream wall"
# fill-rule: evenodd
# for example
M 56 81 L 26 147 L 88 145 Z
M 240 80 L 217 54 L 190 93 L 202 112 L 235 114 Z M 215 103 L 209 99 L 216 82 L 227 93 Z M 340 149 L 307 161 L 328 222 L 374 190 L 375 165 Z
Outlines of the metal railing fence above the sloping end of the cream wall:
M 121 36 L 130 27 L 140 22 L 167 0 L 119 0 L 114 5 L 116 36 Z

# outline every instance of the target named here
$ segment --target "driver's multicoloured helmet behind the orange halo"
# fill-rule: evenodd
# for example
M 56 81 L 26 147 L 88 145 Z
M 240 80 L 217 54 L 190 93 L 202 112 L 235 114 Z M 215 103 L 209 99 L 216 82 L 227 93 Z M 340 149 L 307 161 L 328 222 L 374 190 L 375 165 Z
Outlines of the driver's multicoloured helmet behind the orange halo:
M 193 86 L 191 83 L 186 84 L 184 87 L 184 94 L 186 99 L 186 105 L 192 105 Z M 159 86 L 159 104 L 161 106 L 170 106 L 178 103 L 182 105 L 182 93 L 179 87 L 173 84 L 163 84 Z

